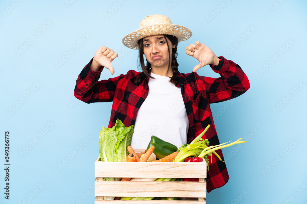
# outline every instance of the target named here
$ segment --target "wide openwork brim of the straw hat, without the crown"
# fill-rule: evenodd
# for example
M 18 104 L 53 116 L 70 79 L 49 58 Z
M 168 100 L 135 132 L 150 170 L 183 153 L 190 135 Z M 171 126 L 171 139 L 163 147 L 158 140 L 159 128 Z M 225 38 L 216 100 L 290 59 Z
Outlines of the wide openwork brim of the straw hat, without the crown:
M 131 49 L 139 49 L 138 40 L 151 35 L 174 35 L 178 39 L 178 43 L 189 39 L 192 32 L 181 25 L 176 24 L 155 24 L 144 26 L 138 30 L 129 33 L 122 39 L 122 43 Z

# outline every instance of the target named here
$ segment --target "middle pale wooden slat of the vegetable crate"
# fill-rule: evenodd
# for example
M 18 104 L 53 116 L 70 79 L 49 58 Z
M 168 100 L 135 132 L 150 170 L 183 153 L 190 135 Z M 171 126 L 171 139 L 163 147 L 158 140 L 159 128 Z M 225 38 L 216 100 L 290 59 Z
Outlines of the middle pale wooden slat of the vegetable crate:
M 206 182 L 95 180 L 95 196 L 205 198 Z

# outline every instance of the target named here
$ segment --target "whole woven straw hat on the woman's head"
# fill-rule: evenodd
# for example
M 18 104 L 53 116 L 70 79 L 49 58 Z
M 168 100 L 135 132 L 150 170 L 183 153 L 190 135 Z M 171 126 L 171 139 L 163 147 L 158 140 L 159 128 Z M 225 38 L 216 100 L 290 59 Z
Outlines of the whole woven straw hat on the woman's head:
M 122 39 L 122 43 L 131 49 L 139 49 L 138 40 L 150 35 L 174 35 L 178 43 L 192 36 L 192 32 L 181 25 L 172 24 L 169 17 L 164 15 L 150 15 L 143 18 L 138 30 L 129 33 Z

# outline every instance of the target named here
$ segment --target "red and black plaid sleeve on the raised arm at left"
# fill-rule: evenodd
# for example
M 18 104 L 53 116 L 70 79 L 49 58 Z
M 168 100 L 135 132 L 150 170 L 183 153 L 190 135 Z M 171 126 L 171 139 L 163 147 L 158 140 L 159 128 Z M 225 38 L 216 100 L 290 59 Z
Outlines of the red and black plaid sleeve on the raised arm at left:
M 116 85 L 122 76 L 98 81 L 103 67 L 99 71 L 93 72 L 90 67 L 92 60 L 85 65 L 79 74 L 76 80 L 74 95 L 86 103 L 111 102 L 115 95 Z

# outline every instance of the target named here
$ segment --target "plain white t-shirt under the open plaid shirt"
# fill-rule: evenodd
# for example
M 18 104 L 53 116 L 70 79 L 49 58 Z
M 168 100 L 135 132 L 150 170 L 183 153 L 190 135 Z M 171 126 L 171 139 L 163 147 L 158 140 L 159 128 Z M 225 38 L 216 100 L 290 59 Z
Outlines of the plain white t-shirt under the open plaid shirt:
M 188 116 L 179 87 L 170 78 L 150 73 L 148 96 L 138 110 L 131 147 L 146 149 L 155 135 L 178 148 L 187 143 Z

